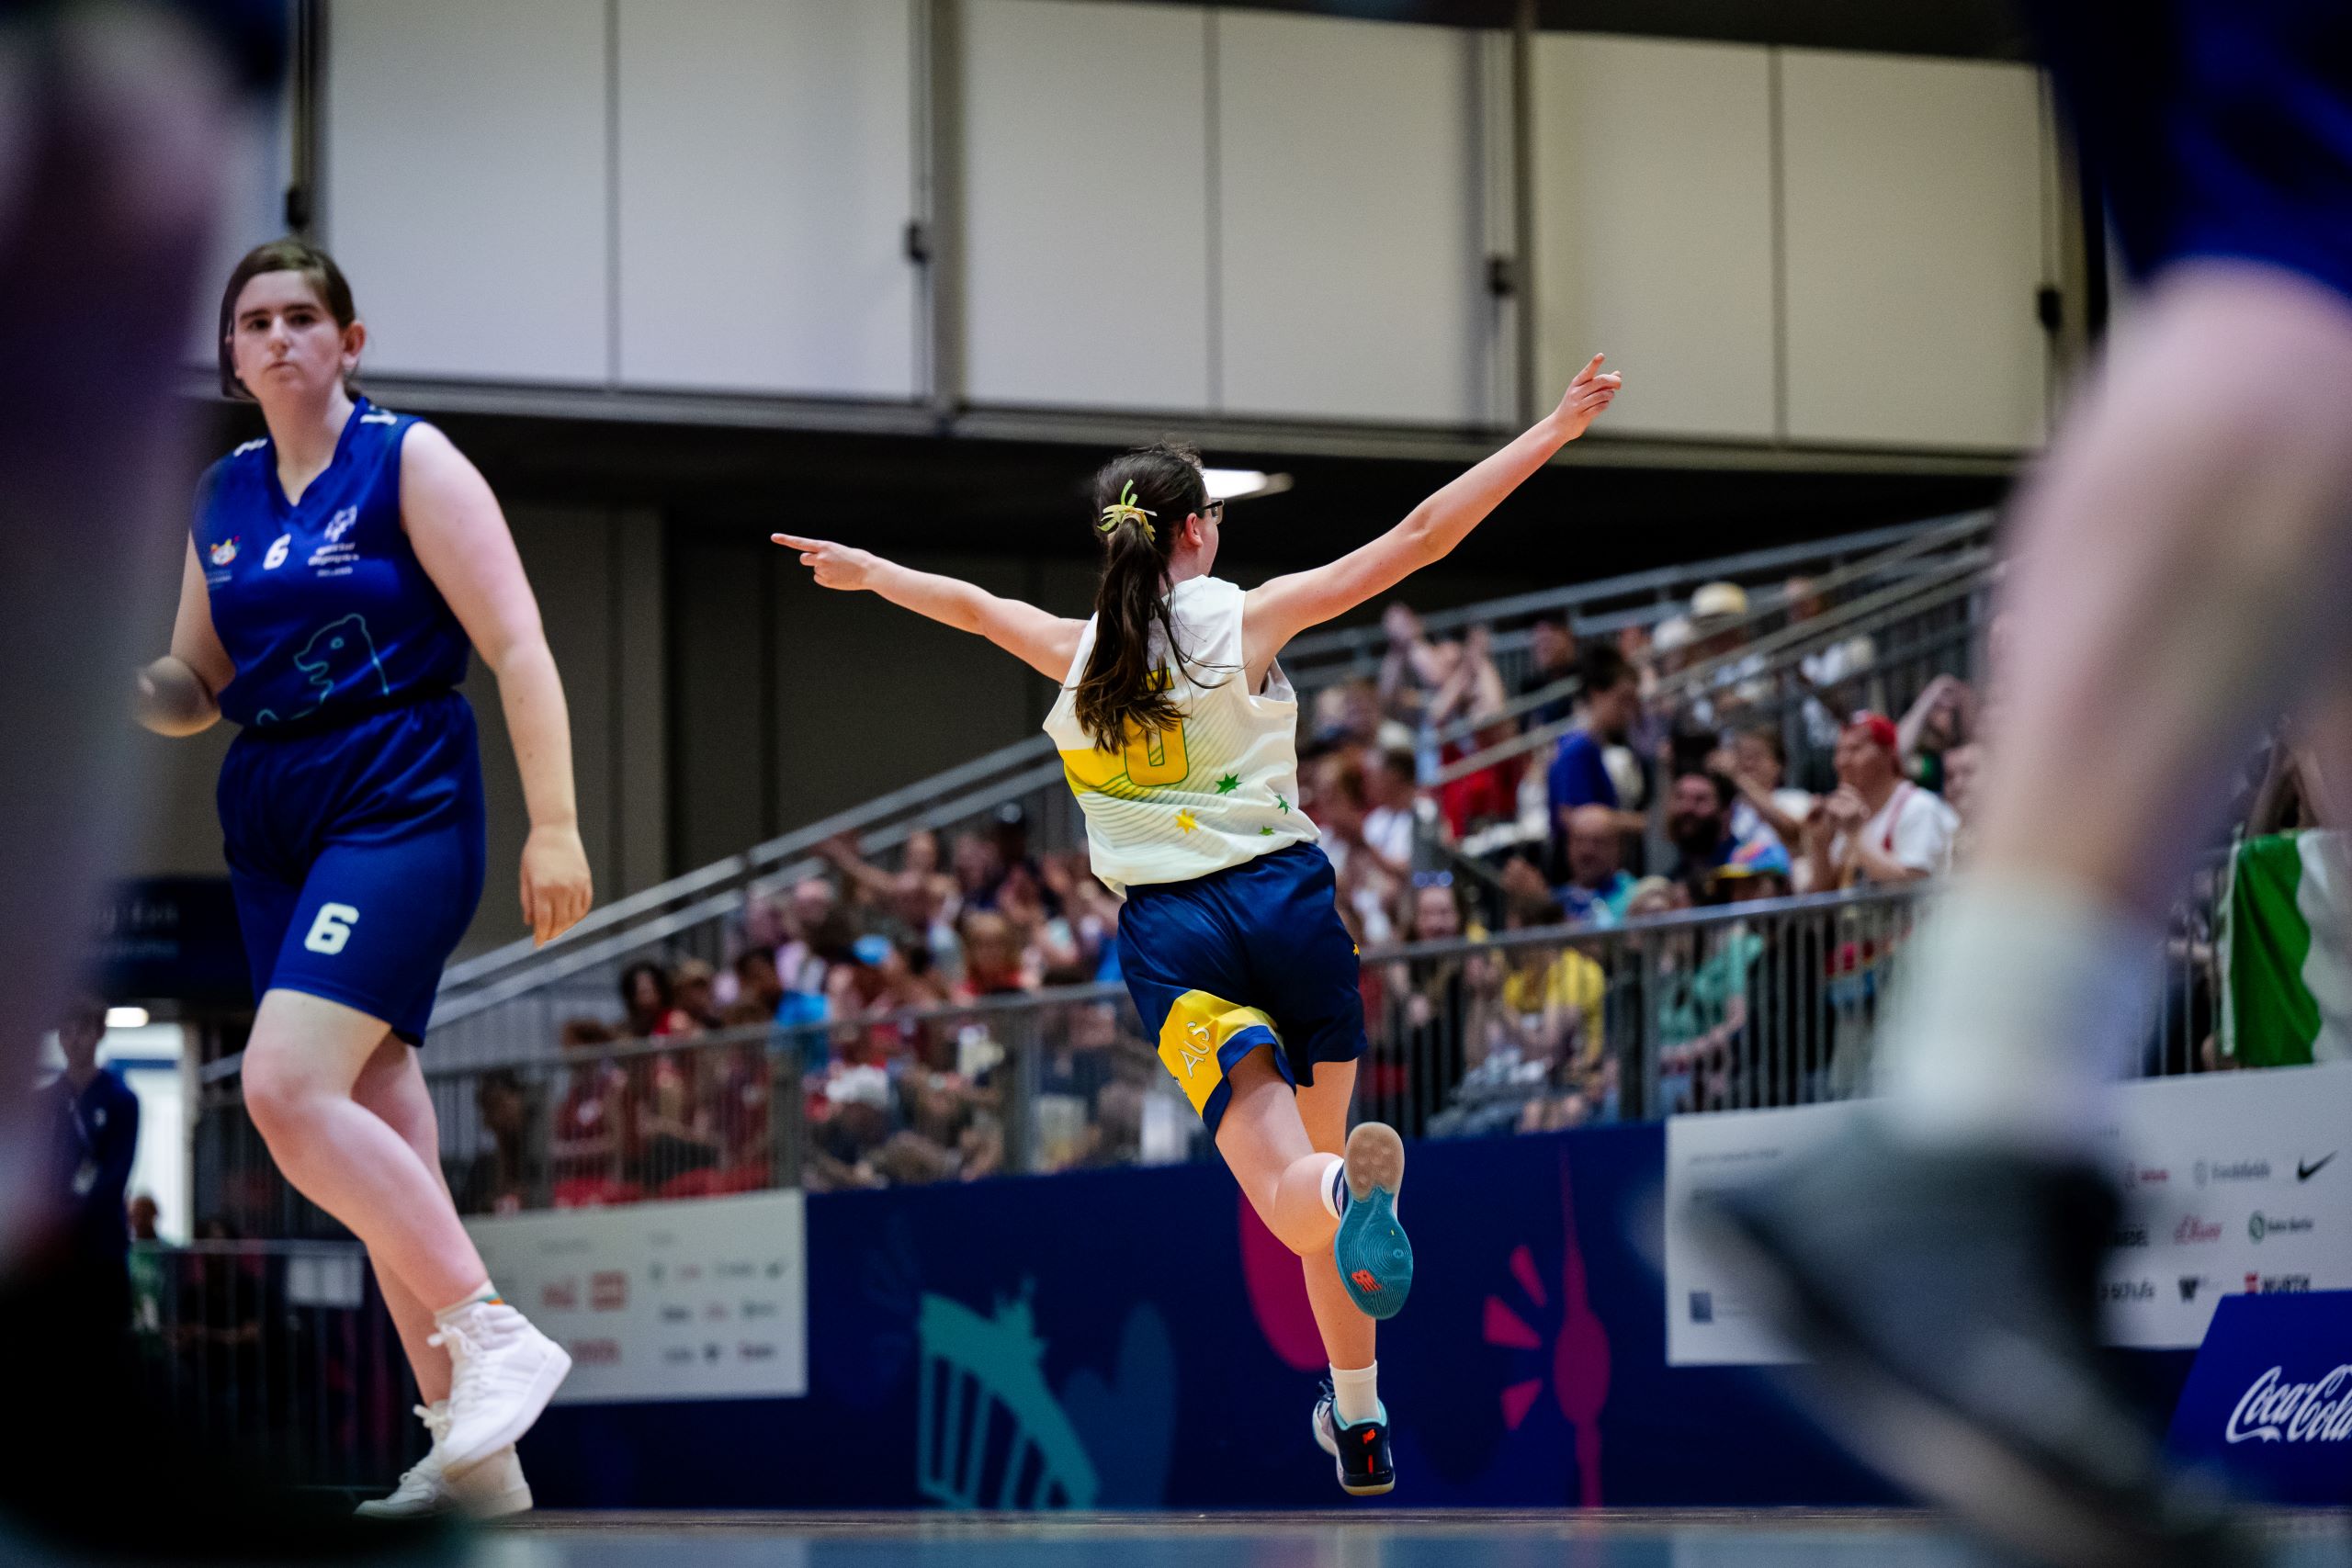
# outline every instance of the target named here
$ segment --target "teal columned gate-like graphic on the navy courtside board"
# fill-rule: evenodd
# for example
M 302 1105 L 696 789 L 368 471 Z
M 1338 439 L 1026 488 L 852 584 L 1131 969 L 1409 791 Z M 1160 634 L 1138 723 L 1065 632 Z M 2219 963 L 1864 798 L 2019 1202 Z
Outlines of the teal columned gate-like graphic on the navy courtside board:
M 995 1316 L 924 1295 L 917 1324 L 915 1469 L 950 1509 L 1087 1509 L 1101 1481 L 1044 1382 L 1028 1288 Z

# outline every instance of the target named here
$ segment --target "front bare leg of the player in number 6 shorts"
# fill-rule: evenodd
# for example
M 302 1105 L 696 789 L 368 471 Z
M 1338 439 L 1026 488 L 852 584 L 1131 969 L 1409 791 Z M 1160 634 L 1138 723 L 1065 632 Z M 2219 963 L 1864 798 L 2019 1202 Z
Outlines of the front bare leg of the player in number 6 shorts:
M 383 1117 L 353 1098 L 383 1041 L 381 1018 L 273 990 L 245 1046 L 245 1107 L 287 1180 L 367 1244 L 379 1274 L 440 1309 L 463 1300 L 487 1272 L 437 1161 L 419 1159 Z

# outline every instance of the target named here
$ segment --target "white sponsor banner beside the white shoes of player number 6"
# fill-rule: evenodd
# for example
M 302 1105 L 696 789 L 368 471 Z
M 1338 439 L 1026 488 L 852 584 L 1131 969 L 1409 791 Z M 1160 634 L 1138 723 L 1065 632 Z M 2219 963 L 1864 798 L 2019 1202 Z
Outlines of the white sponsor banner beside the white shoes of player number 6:
M 494 1215 L 466 1229 L 499 1293 L 572 1352 L 557 1403 L 809 1392 L 797 1192 Z

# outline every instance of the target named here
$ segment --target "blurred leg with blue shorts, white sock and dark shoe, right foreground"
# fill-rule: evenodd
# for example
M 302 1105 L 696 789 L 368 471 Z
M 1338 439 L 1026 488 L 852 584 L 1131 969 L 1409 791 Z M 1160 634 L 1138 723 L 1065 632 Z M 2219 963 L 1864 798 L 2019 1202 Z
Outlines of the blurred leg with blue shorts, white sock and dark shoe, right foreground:
M 2147 292 L 2018 501 L 2020 677 L 1882 1114 L 1715 1218 L 1865 1458 L 2032 1561 L 2251 1561 L 2100 1371 L 2084 1157 L 2241 743 L 2345 682 L 2352 12 L 2032 9 Z

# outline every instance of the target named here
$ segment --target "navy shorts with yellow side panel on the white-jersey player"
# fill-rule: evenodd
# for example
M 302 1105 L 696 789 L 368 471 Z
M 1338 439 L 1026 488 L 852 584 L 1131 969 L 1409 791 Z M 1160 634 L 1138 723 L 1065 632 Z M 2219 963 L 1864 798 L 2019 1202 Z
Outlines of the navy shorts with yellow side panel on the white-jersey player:
M 1120 973 L 1211 1135 L 1232 1098 L 1225 1074 L 1258 1046 L 1291 1088 L 1315 1081 L 1315 1063 L 1364 1056 L 1355 940 L 1315 844 L 1127 889 Z

